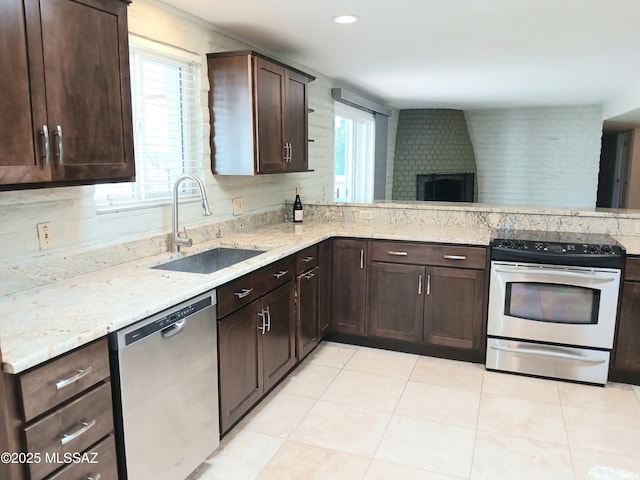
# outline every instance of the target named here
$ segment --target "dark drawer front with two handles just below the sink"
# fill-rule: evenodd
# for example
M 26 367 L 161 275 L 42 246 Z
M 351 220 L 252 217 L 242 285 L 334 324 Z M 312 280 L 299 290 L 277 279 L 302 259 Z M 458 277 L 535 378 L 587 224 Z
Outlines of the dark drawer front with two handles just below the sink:
M 223 285 L 218 288 L 218 318 L 251 303 L 294 277 L 295 257 L 290 256 Z

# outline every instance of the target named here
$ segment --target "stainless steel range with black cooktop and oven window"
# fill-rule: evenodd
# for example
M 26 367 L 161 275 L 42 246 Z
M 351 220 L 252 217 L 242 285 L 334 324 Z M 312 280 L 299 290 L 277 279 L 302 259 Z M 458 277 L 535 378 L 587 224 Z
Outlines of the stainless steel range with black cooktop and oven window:
M 624 260 L 609 235 L 494 234 L 487 369 L 604 385 Z

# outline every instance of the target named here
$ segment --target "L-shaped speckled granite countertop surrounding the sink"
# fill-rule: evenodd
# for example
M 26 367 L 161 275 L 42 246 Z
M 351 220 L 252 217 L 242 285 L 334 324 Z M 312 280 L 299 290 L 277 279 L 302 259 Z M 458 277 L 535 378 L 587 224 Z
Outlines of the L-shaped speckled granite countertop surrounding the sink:
M 488 227 L 281 223 L 195 245 L 190 253 L 219 246 L 265 250 L 208 275 L 150 268 L 182 256 L 163 253 L 38 284 L 0 297 L 3 369 L 22 372 L 330 237 L 486 246 L 490 233 Z

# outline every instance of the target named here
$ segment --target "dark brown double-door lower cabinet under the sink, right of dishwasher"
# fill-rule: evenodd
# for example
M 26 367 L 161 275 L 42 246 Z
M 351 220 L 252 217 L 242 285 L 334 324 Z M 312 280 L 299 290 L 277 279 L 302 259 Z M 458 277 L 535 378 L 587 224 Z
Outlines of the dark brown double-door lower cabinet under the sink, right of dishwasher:
M 295 365 L 293 282 L 218 320 L 220 432 Z

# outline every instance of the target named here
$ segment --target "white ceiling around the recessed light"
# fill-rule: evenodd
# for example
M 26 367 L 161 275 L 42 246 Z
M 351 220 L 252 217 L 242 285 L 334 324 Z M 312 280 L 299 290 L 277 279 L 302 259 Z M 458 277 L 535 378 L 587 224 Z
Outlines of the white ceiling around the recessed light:
M 603 104 L 640 124 L 640 0 L 163 2 L 392 107 Z

